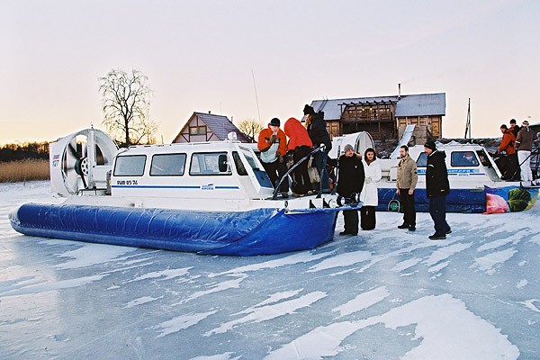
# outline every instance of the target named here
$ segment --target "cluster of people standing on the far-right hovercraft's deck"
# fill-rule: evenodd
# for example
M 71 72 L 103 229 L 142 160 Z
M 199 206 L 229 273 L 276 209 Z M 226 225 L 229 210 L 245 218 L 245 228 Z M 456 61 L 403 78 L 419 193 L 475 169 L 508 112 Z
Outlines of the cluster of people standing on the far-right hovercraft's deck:
M 529 129 L 529 122 L 523 121 L 521 127 L 515 119 L 510 120 L 510 127 L 500 125 L 502 139 L 497 151 L 500 157 L 500 170 L 503 180 L 521 180 L 530 185 L 533 174 L 530 166 L 531 151 L 536 139 L 535 131 Z

